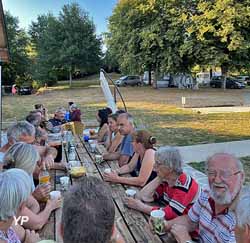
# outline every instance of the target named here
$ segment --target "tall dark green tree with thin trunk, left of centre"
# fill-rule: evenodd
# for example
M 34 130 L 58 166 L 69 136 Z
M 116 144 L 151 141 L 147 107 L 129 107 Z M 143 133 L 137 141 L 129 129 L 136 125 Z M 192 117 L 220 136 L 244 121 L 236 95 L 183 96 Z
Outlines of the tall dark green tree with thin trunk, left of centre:
M 58 63 L 68 69 L 70 82 L 77 68 L 97 70 L 100 65 L 101 40 L 96 37 L 94 23 L 78 4 L 65 5 L 60 12 L 61 46 Z

